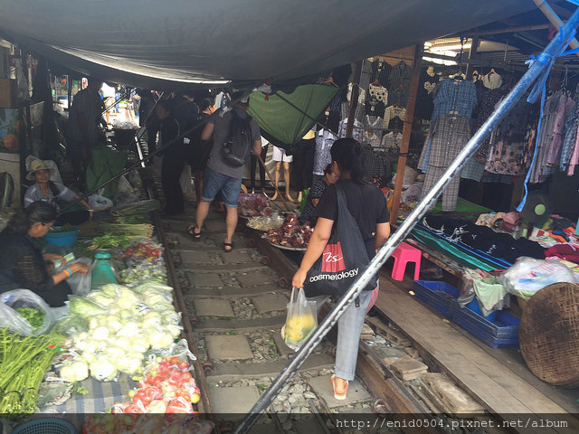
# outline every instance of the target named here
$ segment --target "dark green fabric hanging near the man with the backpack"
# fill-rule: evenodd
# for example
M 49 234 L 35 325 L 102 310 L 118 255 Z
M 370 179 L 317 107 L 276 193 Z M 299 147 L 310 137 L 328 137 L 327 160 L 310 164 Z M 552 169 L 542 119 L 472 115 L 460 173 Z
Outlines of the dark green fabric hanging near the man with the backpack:
M 271 143 L 289 148 L 316 123 L 337 90 L 334 86 L 308 84 L 291 93 L 279 90 L 267 99 L 264 93 L 253 92 L 248 113 L 260 124 L 261 133 Z

